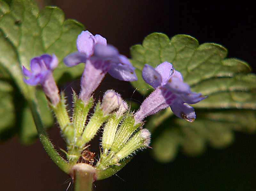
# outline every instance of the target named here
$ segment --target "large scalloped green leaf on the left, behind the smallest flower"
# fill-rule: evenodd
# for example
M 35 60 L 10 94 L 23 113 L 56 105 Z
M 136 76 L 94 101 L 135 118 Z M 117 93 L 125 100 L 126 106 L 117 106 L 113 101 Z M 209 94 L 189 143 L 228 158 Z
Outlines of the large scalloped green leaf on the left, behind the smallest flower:
M 0 0 L 0 26 L 0 80 L 15 90 L 8 94 L 8 98 L 5 96 L 6 100 L 0 101 L 1 112 L 6 116 L 8 114 L 6 118 L 9 119 L 0 123 L 0 129 L 5 129 L 4 132 L 16 129 L 24 143 L 31 143 L 36 129 L 25 100 L 34 99 L 36 89 L 23 82 L 21 68 L 23 65 L 29 68 L 30 59 L 34 56 L 54 53 L 59 59 L 53 73 L 57 82 L 65 83 L 80 76 L 83 65 L 68 68 L 62 59 L 76 51 L 76 38 L 84 26 L 75 20 L 65 20 L 63 12 L 57 7 L 45 7 L 40 13 L 32 0 L 13 0 L 10 7 Z M 14 93 L 19 96 L 13 98 Z M 42 92 L 36 96 L 44 125 L 52 126 L 52 114 L 47 108 L 45 96 Z M 13 110 L 15 112 L 9 114 Z M 2 130 L 0 137 L 1 134 Z

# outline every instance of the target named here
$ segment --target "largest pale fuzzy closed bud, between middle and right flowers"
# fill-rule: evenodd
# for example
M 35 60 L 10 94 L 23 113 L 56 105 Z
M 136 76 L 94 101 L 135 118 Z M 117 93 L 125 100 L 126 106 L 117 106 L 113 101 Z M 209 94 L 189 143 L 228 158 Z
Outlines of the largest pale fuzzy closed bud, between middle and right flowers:
M 101 109 L 104 115 L 109 114 L 116 108 L 118 108 L 122 103 L 121 96 L 116 93 L 114 90 L 108 90 L 105 92 L 101 104 Z

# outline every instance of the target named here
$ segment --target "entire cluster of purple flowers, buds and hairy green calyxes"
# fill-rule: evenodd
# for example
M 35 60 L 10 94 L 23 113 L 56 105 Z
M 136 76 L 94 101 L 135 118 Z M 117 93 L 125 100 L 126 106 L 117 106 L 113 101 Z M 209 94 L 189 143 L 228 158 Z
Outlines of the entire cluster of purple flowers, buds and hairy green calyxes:
M 31 71 L 23 67 L 23 74 L 28 77 L 24 78 L 24 82 L 41 84 L 50 100 L 49 105 L 67 144 L 67 151 L 64 151 L 67 162 L 74 166 L 70 175 L 76 171 L 76 163 L 94 165 L 94 169 L 102 172 L 121 165 L 135 151 L 149 147 L 151 134 L 148 129 L 142 129 L 143 119 L 161 109 L 170 106 L 176 116 L 189 122 L 195 120 L 194 108 L 187 104 L 197 103 L 205 97 L 191 92 L 180 72 L 174 70 L 169 62 L 163 62 L 156 68 L 145 64 L 142 77 L 155 90 L 136 113 L 131 112 L 121 95 L 113 90 L 105 92 L 102 101 L 94 102 L 92 94 L 107 72 L 119 80 L 134 81 L 138 79 L 135 68 L 127 57 L 108 45 L 99 34 L 83 31 L 77 37 L 76 47 L 77 52 L 64 58 L 68 67 L 85 63 L 79 96 L 75 92 L 73 95 L 72 117 L 68 114 L 64 93 L 59 94 L 52 76 L 53 69 L 58 65 L 57 57 L 44 54 L 31 59 Z M 95 153 L 88 150 L 89 142 L 102 126 L 100 158 L 94 164 Z M 109 172 L 115 173 L 115 170 L 110 169 Z M 103 175 L 105 178 L 108 176 L 106 173 Z

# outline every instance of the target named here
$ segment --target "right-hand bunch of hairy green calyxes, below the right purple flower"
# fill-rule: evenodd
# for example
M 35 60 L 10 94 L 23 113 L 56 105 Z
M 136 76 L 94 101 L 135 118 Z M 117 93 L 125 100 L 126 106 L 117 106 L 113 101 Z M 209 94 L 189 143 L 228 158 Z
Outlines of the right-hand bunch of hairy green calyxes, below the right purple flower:
M 109 118 L 103 130 L 103 152 L 96 165 L 100 173 L 105 174 L 104 171 L 109 172 L 109 168 L 115 169 L 116 166 L 122 168 L 122 164 L 135 151 L 149 146 L 150 133 L 147 129 L 140 129 L 141 126 L 141 123 L 134 125 L 131 112 L 125 113 L 122 117 L 112 115 Z

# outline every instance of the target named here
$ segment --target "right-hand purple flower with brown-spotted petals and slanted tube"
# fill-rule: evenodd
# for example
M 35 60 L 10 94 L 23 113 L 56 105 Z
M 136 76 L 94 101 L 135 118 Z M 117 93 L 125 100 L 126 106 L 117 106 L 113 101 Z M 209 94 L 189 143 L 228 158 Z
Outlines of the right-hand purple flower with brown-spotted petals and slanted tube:
M 155 91 L 143 101 L 140 109 L 135 113 L 135 123 L 139 123 L 148 115 L 155 114 L 169 106 L 177 117 L 189 122 L 195 121 L 194 108 L 185 103 L 194 104 L 206 98 L 206 96 L 191 92 L 189 85 L 183 82 L 181 73 L 174 70 L 171 63 L 163 62 L 156 69 L 145 64 L 142 70 L 142 78 Z

